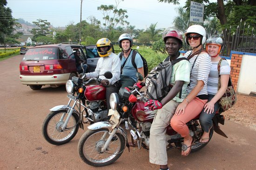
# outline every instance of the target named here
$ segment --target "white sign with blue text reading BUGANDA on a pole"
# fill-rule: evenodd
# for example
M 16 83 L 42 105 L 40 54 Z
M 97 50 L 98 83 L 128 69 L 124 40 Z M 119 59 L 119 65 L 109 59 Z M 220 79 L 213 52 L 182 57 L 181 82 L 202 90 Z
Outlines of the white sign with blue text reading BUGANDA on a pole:
M 190 21 L 203 23 L 204 5 L 191 1 L 190 2 Z

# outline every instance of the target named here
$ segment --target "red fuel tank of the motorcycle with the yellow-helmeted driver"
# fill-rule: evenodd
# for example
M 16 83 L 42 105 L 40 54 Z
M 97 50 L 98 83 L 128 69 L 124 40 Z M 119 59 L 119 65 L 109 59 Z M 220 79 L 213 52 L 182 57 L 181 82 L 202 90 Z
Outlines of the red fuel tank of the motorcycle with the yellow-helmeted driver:
M 84 91 L 84 96 L 88 101 L 105 100 L 106 87 L 102 85 L 87 85 Z

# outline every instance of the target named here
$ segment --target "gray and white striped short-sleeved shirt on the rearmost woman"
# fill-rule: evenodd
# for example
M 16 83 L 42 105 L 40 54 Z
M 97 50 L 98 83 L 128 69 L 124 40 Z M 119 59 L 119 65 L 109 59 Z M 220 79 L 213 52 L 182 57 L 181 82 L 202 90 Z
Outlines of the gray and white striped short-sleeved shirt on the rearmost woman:
M 207 82 L 208 93 L 215 95 L 218 92 L 218 82 L 219 82 L 219 72 L 218 72 L 218 63 L 212 62 L 211 71 L 209 73 L 209 78 Z M 227 60 L 222 60 L 220 75 L 230 75 L 230 66 Z

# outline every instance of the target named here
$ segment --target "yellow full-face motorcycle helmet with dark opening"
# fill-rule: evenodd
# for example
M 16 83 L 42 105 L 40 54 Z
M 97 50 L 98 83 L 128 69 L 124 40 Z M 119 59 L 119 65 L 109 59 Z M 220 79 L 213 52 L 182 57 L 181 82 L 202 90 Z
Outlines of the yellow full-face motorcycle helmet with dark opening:
M 101 49 L 100 47 L 103 47 L 103 46 L 107 46 L 108 49 L 104 52 L 101 52 Z M 109 39 L 107 38 L 102 38 L 102 39 L 99 39 L 96 43 L 96 47 L 97 47 L 97 52 L 99 53 L 99 56 L 100 57 L 107 57 L 111 54 L 112 52 L 112 43 Z

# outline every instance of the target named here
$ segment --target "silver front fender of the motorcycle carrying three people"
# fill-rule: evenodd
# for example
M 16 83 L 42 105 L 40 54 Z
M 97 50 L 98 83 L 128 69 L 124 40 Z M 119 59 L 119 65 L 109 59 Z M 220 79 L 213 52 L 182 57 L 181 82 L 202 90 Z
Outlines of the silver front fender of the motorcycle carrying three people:
M 112 131 L 113 124 L 110 124 L 107 121 L 102 121 L 102 122 L 96 122 L 94 124 L 91 124 L 87 128 L 90 129 L 90 130 L 97 130 L 97 129 L 107 128 L 108 131 Z M 127 136 L 126 136 L 125 131 L 123 130 L 123 128 L 121 126 L 119 126 L 117 128 L 117 132 L 120 133 L 125 138 L 125 141 L 127 141 Z

